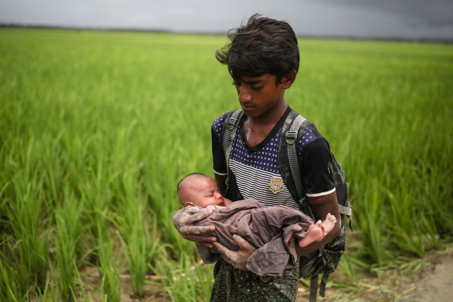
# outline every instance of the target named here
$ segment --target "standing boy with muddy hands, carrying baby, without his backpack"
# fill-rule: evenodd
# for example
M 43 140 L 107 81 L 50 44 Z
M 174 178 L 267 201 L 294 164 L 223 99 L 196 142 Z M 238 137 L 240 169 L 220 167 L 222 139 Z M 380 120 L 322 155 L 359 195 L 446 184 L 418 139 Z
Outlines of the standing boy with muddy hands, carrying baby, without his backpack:
M 213 123 L 211 131 L 217 186 L 225 193 L 228 176 L 228 192 L 225 195 L 233 201 L 255 198 L 266 206 L 286 205 L 301 209 L 299 201 L 292 198 L 283 183 L 277 161 L 282 124 L 291 111 L 284 92 L 292 86 L 299 70 L 297 38 L 287 22 L 259 15 L 252 16 L 247 24 L 230 32 L 229 38 L 231 43 L 218 50 L 216 58 L 228 65 L 245 116 L 238 121 L 228 159 L 224 158 L 222 149 L 222 129 L 227 113 Z M 296 265 L 285 270 L 282 277 L 262 283 L 246 268 L 247 259 L 254 252 L 249 242 L 236 236 L 234 240 L 239 250 L 233 251 L 217 242 L 216 237 L 199 235 L 215 230 L 214 226 L 193 225 L 211 215 L 212 211 L 191 208 L 173 215 L 173 223 L 182 237 L 214 247 L 226 261 L 216 263 L 211 301 L 295 301 L 299 277 L 318 273 L 313 271 L 317 269 L 313 268 L 313 261 L 324 259 L 324 256 L 320 257 L 320 249 L 327 251 L 325 245 L 328 243 L 329 251 L 343 252 L 344 242 L 341 242 L 341 236 L 337 237 L 337 234 L 344 232 L 337 193 L 345 191 L 336 191 L 330 169 L 334 159 L 328 143 L 313 126 L 309 126 L 297 147 L 301 181 L 315 220 L 323 219 L 328 213 L 337 220 L 324 239 L 296 248 L 297 255 L 303 256 L 300 258 L 301 272 L 304 267 L 308 270 L 302 276 Z M 339 196 L 343 198 L 341 194 Z M 238 290 L 237 284 L 241 280 L 249 280 L 249 283 Z

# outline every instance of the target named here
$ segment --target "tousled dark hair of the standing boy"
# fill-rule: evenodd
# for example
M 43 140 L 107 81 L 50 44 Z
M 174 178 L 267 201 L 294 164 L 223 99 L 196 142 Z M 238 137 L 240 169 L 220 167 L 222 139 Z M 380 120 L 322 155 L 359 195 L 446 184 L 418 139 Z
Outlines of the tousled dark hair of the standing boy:
M 255 14 L 247 24 L 228 32 L 231 43 L 216 51 L 235 81 L 241 76 L 269 73 L 277 77 L 299 70 L 299 47 L 292 27 L 284 21 Z

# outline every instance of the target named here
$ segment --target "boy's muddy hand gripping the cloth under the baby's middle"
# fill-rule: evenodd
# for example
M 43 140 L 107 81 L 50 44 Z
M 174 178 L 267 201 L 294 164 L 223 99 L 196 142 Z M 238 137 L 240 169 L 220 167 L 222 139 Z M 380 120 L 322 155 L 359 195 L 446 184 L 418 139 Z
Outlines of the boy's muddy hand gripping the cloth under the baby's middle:
M 218 242 L 213 242 L 216 251 L 222 255 L 222 259 L 233 267 L 245 271 L 247 259 L 255 252 L 255 247 L 239 235 L 233 235 L 235 244 L 239 247 L 237 252 L 229 250 Z

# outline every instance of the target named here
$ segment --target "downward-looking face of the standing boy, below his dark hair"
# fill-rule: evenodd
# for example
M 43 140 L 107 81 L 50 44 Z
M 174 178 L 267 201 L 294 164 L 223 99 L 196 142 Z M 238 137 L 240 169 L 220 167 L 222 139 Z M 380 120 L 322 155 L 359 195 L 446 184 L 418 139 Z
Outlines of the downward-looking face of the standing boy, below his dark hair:
M 247 116 L 261 116 L 284 101 L 284 90 L 291 87 L 294 80 L 283 77 L 275 85 L 276 80 L 276 76 L 265 73 L 257 77 L 242 76 L 240 81 L 233 82 L 239 103 Z

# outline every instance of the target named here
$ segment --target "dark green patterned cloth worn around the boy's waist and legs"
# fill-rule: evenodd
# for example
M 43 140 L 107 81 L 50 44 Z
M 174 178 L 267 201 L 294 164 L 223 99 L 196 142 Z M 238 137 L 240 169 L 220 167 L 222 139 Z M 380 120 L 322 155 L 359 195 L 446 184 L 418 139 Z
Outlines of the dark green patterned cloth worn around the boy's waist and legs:
M 219 260 L 214 267 L 214 278 L 211 302 L 296 301 L 299 263 L 285 270 L 282 277 L 263 280 Z

